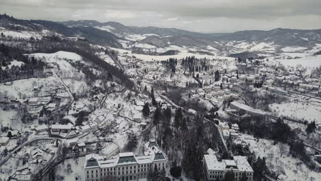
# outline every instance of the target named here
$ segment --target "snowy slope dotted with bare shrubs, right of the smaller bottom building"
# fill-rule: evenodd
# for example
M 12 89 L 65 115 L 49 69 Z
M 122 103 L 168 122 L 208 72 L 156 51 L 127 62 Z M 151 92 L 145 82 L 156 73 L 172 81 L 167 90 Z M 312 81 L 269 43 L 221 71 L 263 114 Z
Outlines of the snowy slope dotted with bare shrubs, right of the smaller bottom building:
M 289 155 L 288 145 L 281 146 L 281 143 L 273 145 L 274 141 L 262 138 L 255 141 L 253 136 L 247 134 L 243 134 L 243 137 L 242 141 L 249 144 L 250 150 L 256 156 L 266 158 L 269 169 L 286 176 L 283 181 L 321 180 L 320 173 L 309 170 L 298 158 Z M 235 143 L 241 143 L 241 141 L 237 140 Z M 284 150 L 282 156 L 281 150 Z

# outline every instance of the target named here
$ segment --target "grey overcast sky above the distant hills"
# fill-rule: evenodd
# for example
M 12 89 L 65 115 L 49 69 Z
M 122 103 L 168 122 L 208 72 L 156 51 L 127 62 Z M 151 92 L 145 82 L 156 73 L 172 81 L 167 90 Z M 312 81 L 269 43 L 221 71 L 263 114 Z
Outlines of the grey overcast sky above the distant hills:
M 321 29 L 321 0 L 0 0 L 19 19 L 117 21 L 195 32 Z

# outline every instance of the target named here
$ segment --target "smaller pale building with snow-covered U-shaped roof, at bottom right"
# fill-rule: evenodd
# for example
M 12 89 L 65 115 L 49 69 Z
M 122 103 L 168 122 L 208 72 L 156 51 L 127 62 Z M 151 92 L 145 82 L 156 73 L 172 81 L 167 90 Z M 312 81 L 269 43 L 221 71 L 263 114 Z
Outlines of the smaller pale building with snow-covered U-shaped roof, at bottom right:
M 224 180 L 228 171 L 233 171 L 235 181 L 241 180 L 243 174 L 246 174 L 248 181 L 253 180 L 253 169 L 248 163 L 246 156 L 234 156 L 233 160 L 217 160 L 215 155 L 204 155 L 204 171 L 206 180 L 216 181 Z

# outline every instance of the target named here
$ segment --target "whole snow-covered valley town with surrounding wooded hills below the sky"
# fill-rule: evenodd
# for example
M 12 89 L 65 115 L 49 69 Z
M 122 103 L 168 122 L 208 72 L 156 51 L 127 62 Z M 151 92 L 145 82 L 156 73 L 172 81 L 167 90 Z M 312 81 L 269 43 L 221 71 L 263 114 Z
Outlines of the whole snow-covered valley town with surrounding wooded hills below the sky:
M 320 29 L 0 13 L 0 181 L 321 180 Z

